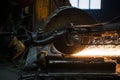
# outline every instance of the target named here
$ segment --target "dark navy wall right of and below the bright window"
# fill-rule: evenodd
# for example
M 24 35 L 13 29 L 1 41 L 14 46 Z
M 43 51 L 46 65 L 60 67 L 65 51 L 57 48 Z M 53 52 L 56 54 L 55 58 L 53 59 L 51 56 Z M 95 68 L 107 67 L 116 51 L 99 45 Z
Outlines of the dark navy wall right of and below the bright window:
M 101 0 L 100 10 L 85 10 L 98 22 L 109 21 L 120 16 L 120 0 Z

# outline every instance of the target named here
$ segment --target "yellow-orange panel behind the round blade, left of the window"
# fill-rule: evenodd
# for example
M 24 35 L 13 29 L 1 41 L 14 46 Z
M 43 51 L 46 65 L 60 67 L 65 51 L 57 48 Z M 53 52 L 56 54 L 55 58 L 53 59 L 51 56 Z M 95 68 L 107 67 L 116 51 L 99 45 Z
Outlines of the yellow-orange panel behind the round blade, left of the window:
M 37 21 L 45 21 L 48 15 L 57 9 L 57 6 L 70 5 L 69 0 L 56 0 L 56 3 L 58 5 L 54 0 L 36 0 L 34 8 Z

